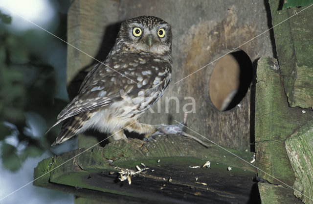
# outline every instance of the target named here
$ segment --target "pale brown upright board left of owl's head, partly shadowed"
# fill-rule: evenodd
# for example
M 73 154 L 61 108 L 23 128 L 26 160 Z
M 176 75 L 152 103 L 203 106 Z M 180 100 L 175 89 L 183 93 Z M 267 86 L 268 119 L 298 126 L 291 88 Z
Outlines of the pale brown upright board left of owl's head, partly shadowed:
M 114 45 L 119 27 L 114 25 L 118 23 L 118 4 L 119 0 L 75 0 L 71 3 L 67 15 L 67 42 L 75 48 L 67 46 L 70 99 L 76 95 L 86 75 L 84 71 L 98 63 L 90 56 L 104 61 Z

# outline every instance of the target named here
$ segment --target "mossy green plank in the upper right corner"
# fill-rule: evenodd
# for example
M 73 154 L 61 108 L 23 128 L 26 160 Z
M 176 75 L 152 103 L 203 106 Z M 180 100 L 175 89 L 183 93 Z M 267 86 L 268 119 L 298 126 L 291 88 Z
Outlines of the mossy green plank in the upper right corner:
M 284 87 L 291 107 L 313 107 L 313 7 L 281 10 L 280 1 L 269 0 L 274 37 Z M 305 40 L 304 40 L 305 39 Z

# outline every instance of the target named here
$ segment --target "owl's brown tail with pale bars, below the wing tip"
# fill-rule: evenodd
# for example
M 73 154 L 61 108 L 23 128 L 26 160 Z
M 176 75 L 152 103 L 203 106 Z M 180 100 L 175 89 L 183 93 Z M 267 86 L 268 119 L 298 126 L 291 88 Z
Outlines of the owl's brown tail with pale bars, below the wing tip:
M 75 136 L 77 133 L 82 132 L 81 130 L 83 126 L 92 115 L 93 114 L 91 114 L 90 111 L 86 111 L 65 120 L 62 124 L 60 134 L 51 146 L 61 144 L 69 138 Z

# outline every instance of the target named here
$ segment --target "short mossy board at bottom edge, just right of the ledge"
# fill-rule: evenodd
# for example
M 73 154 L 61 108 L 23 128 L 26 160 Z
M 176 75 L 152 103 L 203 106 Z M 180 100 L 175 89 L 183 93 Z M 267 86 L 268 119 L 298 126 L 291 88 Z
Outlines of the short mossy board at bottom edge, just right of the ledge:
M 292 189 L 270 183 L 258 183 L 262 204 L 302 204 L 292 195 Z

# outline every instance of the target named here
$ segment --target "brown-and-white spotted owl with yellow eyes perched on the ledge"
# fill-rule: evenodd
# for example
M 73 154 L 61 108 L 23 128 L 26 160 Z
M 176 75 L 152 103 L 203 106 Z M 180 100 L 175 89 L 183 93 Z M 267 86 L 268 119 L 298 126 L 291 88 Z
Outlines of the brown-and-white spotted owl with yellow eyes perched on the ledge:
M 58 115 L 54 126 L 63 125 L 52 145 L 87 129 L 108 133 L 114 140 L 127 138 L 124 129 L 156 132 L 157 126 L 138 119 L 172 79 L 171 51 L 171 26 L 162 19 L 139 16 L 123 22 L 106 60 L 90 70 L 78 95 Z

